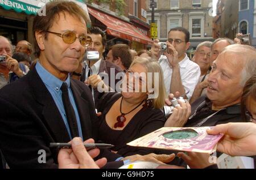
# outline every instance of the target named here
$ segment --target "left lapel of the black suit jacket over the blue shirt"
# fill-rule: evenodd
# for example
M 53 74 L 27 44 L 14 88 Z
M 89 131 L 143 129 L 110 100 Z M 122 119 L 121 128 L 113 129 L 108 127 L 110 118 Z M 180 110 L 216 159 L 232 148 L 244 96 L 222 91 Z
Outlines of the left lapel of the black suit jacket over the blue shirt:
M 38 104 L 42 105 L 42 114 L 44 116 L 43 123 L 49 130 L 49 133 L 53 136 L 56 142 L 67 143 L 70 141 L 67 128 L 64 124 L 63 118 L 57 108 L 55 101 L 53 100 L 51 93 L 44 85 L 42 79 L 34 70 L 27 75 L 29 83 L 31 85 L 32 93 Z

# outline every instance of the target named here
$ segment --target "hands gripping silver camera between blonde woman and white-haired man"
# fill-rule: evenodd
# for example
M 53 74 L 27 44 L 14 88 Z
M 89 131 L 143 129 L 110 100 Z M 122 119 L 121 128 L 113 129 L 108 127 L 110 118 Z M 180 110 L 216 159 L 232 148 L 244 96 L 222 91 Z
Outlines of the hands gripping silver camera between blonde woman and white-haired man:
M 179 92 L 175 93 L 179 96 Z M 177 96 L 176 96 L 177 97 Z M 166 99 L 166 104 L 171 106 L 171 101 L 174 98 L 173 94 L 169 95 L 169 99 Z M 164 127 L 183 127 L 187 123 L 189 115 L 191 115 L 191 105 L 187 100 L 181 102 L 178 100 L 179 105 L 177 105 L 171 116 L 167 119 Z

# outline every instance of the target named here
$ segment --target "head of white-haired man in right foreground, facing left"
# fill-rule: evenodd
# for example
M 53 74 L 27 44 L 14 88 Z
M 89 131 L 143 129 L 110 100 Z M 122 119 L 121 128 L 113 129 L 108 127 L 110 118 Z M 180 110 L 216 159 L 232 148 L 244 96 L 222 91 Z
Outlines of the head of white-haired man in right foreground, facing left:
M 213 62 L 208 78 L 207 97 L 214 110 L 239 104 L 248 77 L 255 73 L 256 52 L 251 46 L 227 46 Z

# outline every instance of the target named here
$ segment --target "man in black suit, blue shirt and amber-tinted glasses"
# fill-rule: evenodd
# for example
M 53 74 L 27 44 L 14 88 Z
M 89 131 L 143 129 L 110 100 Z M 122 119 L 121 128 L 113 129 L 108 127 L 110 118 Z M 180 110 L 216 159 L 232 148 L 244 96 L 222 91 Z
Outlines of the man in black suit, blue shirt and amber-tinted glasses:
M 57 168 L 49 143 L 97 137 L 90 89 L 69 78 L 90 44 L 88 16 L 63 1 L 47 3 L 46 14 L 33 23 L 38 63 L 0 91 L 0 149 L 10 168 Z

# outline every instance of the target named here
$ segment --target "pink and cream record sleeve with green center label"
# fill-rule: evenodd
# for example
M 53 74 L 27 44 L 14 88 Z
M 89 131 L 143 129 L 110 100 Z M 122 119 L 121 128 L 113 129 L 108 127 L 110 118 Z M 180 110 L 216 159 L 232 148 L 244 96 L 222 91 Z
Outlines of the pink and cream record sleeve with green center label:
M 163 127 L 133 142 L 134 147 L 212 153 L 223 135 L 209 135 L 212 127 Z

